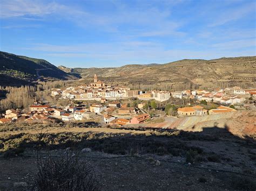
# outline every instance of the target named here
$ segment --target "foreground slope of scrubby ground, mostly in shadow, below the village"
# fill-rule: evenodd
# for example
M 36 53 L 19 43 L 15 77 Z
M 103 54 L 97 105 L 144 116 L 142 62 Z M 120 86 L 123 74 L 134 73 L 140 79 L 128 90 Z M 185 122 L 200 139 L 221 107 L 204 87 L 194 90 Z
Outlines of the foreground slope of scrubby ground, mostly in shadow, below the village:
M 185 123 L 184 130 L 104 128 L 90 122 L 72 128 L 68 123 L 0 124 L 0 190 L 33 189 L 33 180 L 45 177 L 37 173 L 48 158 L 56 162 L 46 163 L 43 172 L 60 166 L 51 171 L 56 172 L 51 180 L 74 177 L 74 169 L 83 172 L 62 162 L 68 154 L 79 164 L 89 162 L 87 172 L 95 173 L 99 190 L 255 190 L 255 136 L 233 135 L 253 116 L 251 111 L 215 116 L 215 123 L 197 123 L 192 131 Z M 225 127 L 224 121 L 229 122 Z

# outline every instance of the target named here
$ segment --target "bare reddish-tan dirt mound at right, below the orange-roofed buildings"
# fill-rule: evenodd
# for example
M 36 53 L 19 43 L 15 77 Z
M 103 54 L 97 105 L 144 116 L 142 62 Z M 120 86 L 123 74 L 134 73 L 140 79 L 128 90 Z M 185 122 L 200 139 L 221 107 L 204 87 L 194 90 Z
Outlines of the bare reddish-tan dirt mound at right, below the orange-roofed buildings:
M 179 118 L 173 122 L 165 120 L 163 123 L 146 124 L 147 128 L 179 129 L 184 131 L 203 131 L 204 128 L 228 128 L 236 136 L 256 136 L 256 112 L 237 111 L 226 114 L 189 116 Z

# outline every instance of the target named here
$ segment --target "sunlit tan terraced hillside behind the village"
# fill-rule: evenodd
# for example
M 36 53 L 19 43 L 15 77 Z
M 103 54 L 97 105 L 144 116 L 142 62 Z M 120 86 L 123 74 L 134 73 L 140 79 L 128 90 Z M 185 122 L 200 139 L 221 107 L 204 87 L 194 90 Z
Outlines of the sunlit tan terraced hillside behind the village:
M 117 68 L 73 68 L 85 80 L 97 74 L 107 82 L 174 90 L 198 87 L 255 86 L 256 56 L 214 60 L 179 60 L 162 65 L 125 65 Z M 194 84 L 194 85 L 193 85 Z

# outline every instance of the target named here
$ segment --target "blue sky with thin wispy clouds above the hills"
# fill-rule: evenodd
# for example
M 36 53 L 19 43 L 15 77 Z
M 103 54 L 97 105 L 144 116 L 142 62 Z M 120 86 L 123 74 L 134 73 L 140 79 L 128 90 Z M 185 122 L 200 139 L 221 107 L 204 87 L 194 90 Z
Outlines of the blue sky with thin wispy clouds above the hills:
M 66 67 L 256 55 L 256 2 L 2 0 L 1 51 Z

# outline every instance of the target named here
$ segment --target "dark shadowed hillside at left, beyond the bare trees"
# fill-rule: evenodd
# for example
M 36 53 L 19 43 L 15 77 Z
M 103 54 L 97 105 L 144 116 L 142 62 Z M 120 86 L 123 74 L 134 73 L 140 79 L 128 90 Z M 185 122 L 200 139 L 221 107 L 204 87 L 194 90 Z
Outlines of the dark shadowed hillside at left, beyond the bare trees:
M 77 79 L 50 62 L 0 52 L 0 86 L 21 86 L 32 81 Z

